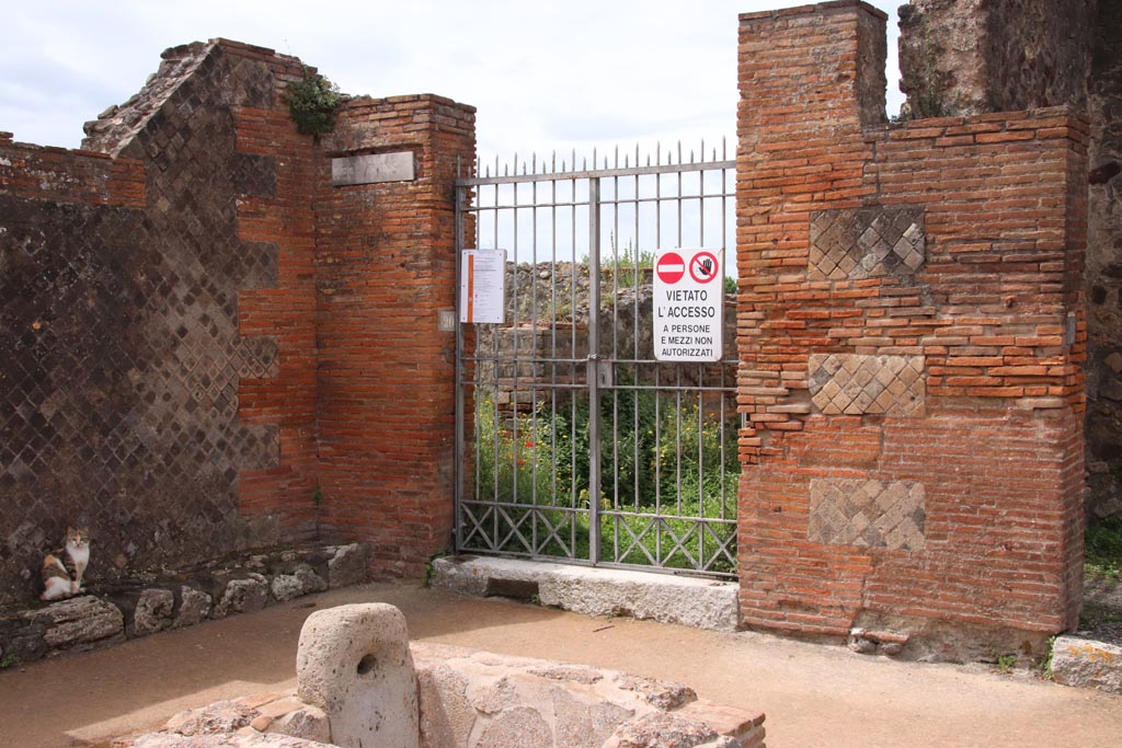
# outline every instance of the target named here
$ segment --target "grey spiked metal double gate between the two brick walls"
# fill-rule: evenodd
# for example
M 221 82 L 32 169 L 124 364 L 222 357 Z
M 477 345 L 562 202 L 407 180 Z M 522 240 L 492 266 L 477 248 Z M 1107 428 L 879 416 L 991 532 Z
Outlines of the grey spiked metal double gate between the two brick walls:
M 650 320 L 655 249 L 735 246 L 705 151 L 457 182 L 458 264 L 506 250 L 504 322 L 457 326 L 458 551 L 735 576 L 735 294 L 716 363 L 656 361 Z

